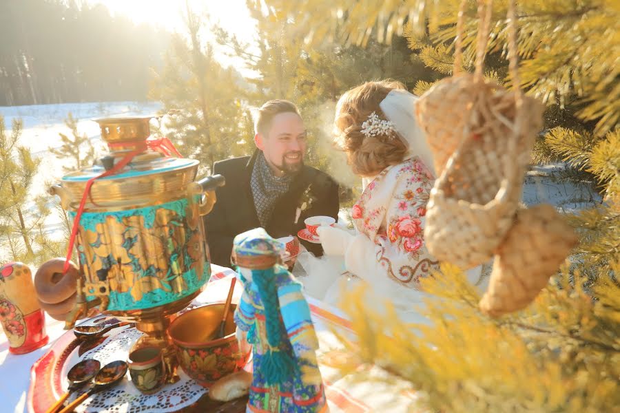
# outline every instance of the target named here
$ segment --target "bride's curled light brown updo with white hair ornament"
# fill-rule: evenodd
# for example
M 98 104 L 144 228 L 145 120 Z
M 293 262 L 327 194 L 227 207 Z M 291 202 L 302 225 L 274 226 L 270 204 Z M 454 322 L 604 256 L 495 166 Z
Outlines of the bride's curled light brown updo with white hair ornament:
M 347 153 L 353 173 L 375 176 L 389 165 L 404 159 L 407 147 L 395 131 L 386 130 L 374 136 L 364 134 L 362 123 L 373 112 L 386 120 L 379 104 L 393 89 L 406 89 L 396 81 L 366 82 L 342 95 L 335 114 L 335 144 Z

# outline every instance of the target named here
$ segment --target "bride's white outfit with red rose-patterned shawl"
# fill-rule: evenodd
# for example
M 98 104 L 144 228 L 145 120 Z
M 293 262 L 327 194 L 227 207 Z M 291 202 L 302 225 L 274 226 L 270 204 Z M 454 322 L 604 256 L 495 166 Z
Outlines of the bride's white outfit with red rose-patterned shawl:
M 344 256 L 298 257 L 307 273 L 300 278 L 307 293 L 341 307 L 347 290 L 366 284 L 364 301 L 375 310 L 383 313 L 389 301 L 403 321 L 425 323 L 418 312 L 425 295 L 419 280 L 439 266 L 423 237 L 433 182 L 433 174 L 416 156 L 364 178 L 364 191 L 352 209 L 356 231 Z M 468 278 L 475 282 L 480 272 L 475 268 Z

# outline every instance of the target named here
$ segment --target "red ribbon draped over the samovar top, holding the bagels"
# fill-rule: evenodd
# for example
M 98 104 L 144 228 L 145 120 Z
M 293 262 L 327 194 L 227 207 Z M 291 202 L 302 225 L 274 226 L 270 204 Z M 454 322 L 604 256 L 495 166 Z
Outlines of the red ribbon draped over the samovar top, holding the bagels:
M 84 193 L 82 194 L 82 199 L 80 200 L 80 205 L 73 220 L 71 235 L 69 237 L 69 246 L 67 248 L 67 258 L 65 260 L 65 265 L 63 266 L 63 274 L 66 274 L 67 271 L 69 271 L 69 261 L 71 260 L 73 246 L 75 244 L 75 237 L 77 236 L 77 231 L 80 226 L 80 218 L 82 218 L 86 199 L 90 195 L 90 188 L 96 180 L 98 180 L 99 178 L 105 178 L 106 176 L 114 175 L 118 171 L 121 171 L 121 169 L 127 166 L 127 164 L 131 162 L 136 155 L 143 153 L 147 149 L 158 151 L 159 153 L 163 154 L 163 156 L 170 156 L 171 153 L 174 153 L 176 156 L 178 156 L 178 158 L 183 158 L 183 156 L 181 156 L 176 147 L 174 147 L 174 144 L 168 138 L 149 138 L 147 140 L 141 140 L 139 142 L 117 142 L 107 144 L 110 149 L 121 146 L 126 147 L 127 145 L 133 145 L 134 147 L 136 147 L 136 149 L 133 149 L 131 152 L 125 154 L 125 156 L 123 156 L 123 158 L 121 158 L 121 160 L 118 161 L 114 165 L 114 167 L 99 174 L 98 176 L 90 178 L 86 182 L 86 187 L 84 188 Z

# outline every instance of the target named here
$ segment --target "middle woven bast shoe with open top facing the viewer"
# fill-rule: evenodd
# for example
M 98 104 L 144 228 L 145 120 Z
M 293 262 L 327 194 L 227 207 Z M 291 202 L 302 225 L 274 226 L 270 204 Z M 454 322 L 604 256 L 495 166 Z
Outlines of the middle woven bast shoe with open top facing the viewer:
M 513 225 L 543 107 L 525 97 L 517 114 L 513 92 L 462 77 L 475 85 L 467 87 L 473 95 L 468 119 L 461 145 L 431 191 L 424 239 L 437 259 L 468 269 L 490 260 Z M 463 90 L 464 82 L 452 84 Z M 515 132 L 519 117 L 528 123 Z

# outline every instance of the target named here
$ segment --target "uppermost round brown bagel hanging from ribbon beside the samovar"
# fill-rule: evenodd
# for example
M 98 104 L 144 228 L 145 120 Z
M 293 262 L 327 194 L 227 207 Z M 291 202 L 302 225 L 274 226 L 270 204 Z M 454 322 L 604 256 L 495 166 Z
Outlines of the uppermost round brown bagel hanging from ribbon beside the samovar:
M 69 262 L 69 270 L 63 275 L 64 258 L 52 258 L 45 262 L 34 275 L 34 289 L 39 301 L 45 304 L 59 304 L 76 292 L 79 269 Z M 56 313 L 57 314 L 57 313 Z

